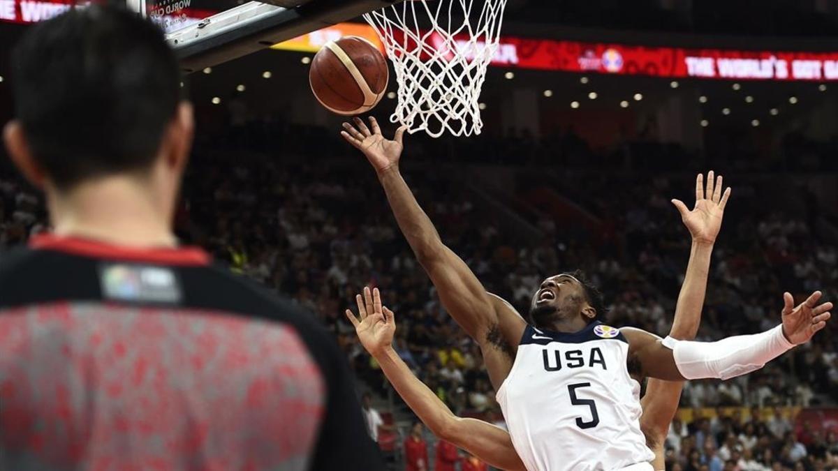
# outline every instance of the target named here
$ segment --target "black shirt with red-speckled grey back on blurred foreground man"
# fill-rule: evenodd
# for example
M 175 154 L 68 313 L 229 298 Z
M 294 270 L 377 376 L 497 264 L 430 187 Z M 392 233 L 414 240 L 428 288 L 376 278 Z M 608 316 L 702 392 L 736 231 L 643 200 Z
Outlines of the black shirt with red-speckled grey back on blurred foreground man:
M 195 249 L 0 257 L 0 469 L 383 469 L 339 348 Z

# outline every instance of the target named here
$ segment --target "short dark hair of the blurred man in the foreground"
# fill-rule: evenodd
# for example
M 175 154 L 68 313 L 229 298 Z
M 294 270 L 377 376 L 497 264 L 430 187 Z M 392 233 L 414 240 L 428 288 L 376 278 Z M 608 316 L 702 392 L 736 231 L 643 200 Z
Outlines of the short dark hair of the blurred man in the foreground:
M 180 101 L 156 25 L 125 8 L 74 8 L 30 28 L 12 64 L 23 133 L 59 189 L 153 163 Z

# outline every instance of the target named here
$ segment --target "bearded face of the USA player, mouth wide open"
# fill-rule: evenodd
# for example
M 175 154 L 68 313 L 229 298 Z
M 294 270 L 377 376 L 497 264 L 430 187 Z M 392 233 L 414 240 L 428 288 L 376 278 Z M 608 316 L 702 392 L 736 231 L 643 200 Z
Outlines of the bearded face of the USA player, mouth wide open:
M 562 273 L 541 282 L 530 303 L 530 318 L 535 327 L 550 329 L 556 320 L 580 315 L 585 304 L 582 283 Z

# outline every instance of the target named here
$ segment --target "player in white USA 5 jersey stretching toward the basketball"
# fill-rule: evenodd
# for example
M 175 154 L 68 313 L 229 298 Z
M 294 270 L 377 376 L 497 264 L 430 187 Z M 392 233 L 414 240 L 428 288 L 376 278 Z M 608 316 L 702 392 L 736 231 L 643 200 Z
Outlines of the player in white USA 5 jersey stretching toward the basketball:
M 729 379 L 803 344 L 830 318 L 820 292 L 794 308 L 784 294 L 782 323 L 761 334 L 711 343 L 613 329 L 601 323 L 602 297 L 569 274 L 548 277 L 533 294 L 528 321 L 485 291 L 448 249 L 399 173 L 404 128 L 386 140 L 375 119 L 344 123 L 344 138 L 365 153 L 391 209 L 443 306 L 480 345 L 489 379 L 528 469 L 652 469 L 640 430 L 639 381 Z M 723 206 L 721 184 L 708 194 Z M 696 192 L 697 193 L 697 192 Z M 683 212 L 683 204 L 676 204 Z

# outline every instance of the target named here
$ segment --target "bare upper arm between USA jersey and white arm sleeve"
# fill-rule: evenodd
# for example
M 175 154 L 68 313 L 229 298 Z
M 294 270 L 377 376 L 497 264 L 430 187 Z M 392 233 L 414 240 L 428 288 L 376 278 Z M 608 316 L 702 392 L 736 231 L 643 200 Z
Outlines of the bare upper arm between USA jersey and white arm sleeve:
M 629 363 L 639 366 L 637 375 L 667 381 L 685 379 L 675 365 L 672 350 L 664 346 L 663 339 L 634 327 L 623 327 L 620 331 L 629 340 Z

